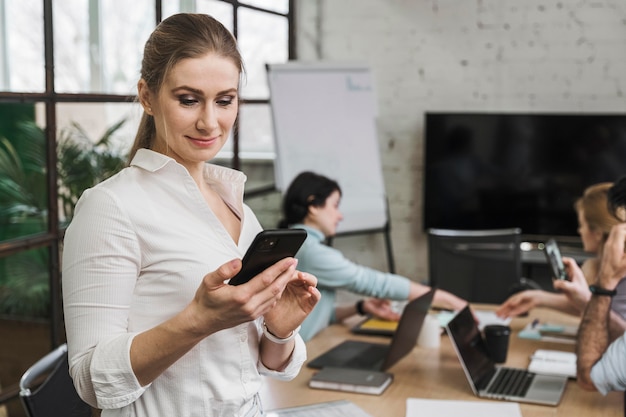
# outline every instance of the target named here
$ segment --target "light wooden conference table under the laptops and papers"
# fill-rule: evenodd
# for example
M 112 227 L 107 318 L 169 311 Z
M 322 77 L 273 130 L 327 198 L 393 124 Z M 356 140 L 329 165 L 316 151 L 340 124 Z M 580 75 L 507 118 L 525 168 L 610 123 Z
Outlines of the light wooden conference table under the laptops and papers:
M 494 306 L 475 305 L 473 308 L 489 310 Z M 535 309 L 528 317 L 513 319 L 510 324 L 512 333 L 505 365 L 525 368 L 528 366 L 529 356 L 537 349 L 574 351 L 573 344 L 520 339 L 517 336 L 519 330 L 536 318 L 542 322 L 578 324 L 578 319 L 572 316 L 547 309 Z M 352 334 L 350 324 L 353 323 L 330 326 L 311 339 L 307 343 L 309 359 L 348 338 L 389 342 L 389 338 L 386 337 Z M 405 417 L 407 398 L 489 401 L 480 399 L 472 393 L 446 334 L 442 335 L 439 348 L 427 349 L 416 346 L 409 355 L 395 364 L 389 370 L 394 374 L 394 381 L 380 396 L 309 388 L 307 384 L 314 372 L 313 369 L 303 366 L 300 374 L 292 381 L 266 378 L 265 387 L 261 392 L 265 410 L 347 399 L 374 417 Z M 561 403 L 557 407 L 520 403 L 520 408 L 524 417 L 624 415 L 621 392 L 602 396 L 598 392 L 584 391 L 574 380 L 568 382 Z

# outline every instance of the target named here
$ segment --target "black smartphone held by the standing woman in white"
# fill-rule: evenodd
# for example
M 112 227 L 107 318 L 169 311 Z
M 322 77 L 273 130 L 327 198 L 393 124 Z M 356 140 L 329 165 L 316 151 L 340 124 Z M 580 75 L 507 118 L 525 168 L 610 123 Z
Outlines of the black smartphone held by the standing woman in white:
M 228 282 L 241 285 L 281 259 L 293 257 L 306 239 L 304 229 L 268 229 L 261 231 L 241 260 L 241 271 Z

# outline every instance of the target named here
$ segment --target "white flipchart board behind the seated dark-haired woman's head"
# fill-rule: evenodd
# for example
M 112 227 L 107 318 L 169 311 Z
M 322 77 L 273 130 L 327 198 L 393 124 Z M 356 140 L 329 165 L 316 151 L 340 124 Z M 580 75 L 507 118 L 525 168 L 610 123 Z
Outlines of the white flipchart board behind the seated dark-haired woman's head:
M 387 224 L 373 77 L 365 65 L 268 64 L 276 146 L 276 188 L 302 171 L 341 186 L 344 220 L 337 233 Z

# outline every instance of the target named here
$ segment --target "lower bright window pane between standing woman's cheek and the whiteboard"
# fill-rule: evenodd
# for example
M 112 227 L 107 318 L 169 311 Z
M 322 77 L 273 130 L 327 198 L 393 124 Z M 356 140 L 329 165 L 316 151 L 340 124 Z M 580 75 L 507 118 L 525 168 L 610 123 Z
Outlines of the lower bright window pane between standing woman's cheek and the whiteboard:
M 239 110 L 239 155 L 242 158 L 274 158 L 272 115 L 268 104 L 242 105 Z

